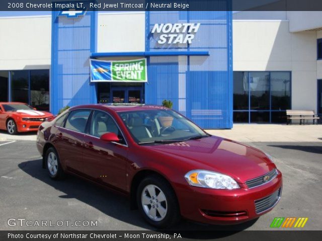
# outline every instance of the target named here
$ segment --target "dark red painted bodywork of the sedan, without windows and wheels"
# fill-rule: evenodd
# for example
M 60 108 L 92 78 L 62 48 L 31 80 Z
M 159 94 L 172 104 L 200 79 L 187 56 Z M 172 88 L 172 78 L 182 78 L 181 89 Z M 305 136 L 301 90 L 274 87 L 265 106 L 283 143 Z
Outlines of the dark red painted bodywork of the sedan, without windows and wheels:
M 264 185 L 248 188 L 246 181 L 267 174 L 275 164 L 260 150 L 220 137 L 163 145 L 138 145 L 117 112 L 163 108 L 160 106 L 82 105 L 78 108 L 100 109 L 114 117 L 127 146 L 101 141 L 87 134 L 56 127 L 55 121 L 41 125 L 37 148 L 43 154 L 45 144 L 53 145 L 66 172 L 77 174 L 131 196 L 133 178 L 141 171 L 162 175 L 173 187 L 181 215 L 187 219 L 234 224 L 259 217 L 254 201 L 282 188 L 282 174 Z M 77 109 L 77 107 L 69 110 Z M 203 169 L 231 176 L 238 189 L 210 189 L 190 186 L 185 174 Z M 205 210 L 210 210 L 209 212 Z

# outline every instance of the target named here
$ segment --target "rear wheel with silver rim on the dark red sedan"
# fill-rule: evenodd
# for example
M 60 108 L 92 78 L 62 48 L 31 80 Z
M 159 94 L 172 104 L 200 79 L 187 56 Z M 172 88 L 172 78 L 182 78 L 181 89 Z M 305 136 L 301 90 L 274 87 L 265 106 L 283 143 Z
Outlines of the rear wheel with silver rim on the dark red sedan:
M 46 169 L 48 171 L 49 177 L 54 180 L 63 178 L 65 176 L 65 173 L 61 168 L 56 150 L 53 147 L 48 148 L 45 157 Z

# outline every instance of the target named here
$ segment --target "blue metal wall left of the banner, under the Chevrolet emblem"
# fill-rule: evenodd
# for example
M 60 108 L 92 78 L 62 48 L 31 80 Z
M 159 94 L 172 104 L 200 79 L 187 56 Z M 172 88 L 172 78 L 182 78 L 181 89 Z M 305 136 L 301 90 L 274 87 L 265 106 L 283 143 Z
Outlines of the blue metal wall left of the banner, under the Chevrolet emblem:
M 66 105 L 97 102 L 89 63 L 96 48 L 97 12 L 88 11 L 75 19 L 57 17 L 58 13 L 52 12 L 50 111 L 54 114 Z

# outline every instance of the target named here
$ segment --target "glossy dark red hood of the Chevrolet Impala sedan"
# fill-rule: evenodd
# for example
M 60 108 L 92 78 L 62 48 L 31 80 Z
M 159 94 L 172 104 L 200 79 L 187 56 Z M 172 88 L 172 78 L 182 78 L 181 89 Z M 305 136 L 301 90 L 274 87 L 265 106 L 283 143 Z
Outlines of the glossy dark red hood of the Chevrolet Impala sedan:
M 258 149 L 215 136 L 145 147 L 186 162 L 187 170 L 215 171 L 229 175 L 239 183 L 245 183 L 276 168 Z

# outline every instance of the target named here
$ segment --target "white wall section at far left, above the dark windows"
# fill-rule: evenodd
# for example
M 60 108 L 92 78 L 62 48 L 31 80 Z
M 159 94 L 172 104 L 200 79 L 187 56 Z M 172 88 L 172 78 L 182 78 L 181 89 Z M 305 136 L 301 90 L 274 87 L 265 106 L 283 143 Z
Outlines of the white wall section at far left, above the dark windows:
M 0 70 L 48 69 L 51 17 L 0 18 Z

